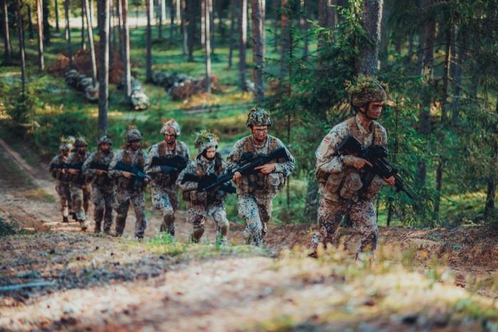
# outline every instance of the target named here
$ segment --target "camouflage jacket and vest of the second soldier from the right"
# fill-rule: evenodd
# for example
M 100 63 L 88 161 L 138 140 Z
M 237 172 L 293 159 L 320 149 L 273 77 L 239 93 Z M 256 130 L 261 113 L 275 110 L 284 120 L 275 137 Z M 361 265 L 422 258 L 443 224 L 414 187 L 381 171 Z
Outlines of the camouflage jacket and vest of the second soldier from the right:
M 269 154 L 271 151 L 280 148 L 281 146 L 284 146 L 282 141 L 270 135 L 268 135 L 263 146 L 256 146 L 253 141 L 253 136 L 245 136 L 233 145 L 232 151 L 228 156 L 228 167 L 237 166 L 240 157 L 244 152 L 251 152 L 255 155 Z M 292 173 L 295 167 L 294 157 L 287 148 L 285 148 L 285 150 L 290 157 L 289 161 L 285 159 L 271 161 L 272 163 L 275 163 L 275 171 L 272 171 L 270 174 L 258 172 L 241 176 L 238 181 L 235 182 L 237 185 L 237 193 L 265 195 L 268 193 L 276 193 L 283 188 L 283 186 L 285 186 L 285 178 Z

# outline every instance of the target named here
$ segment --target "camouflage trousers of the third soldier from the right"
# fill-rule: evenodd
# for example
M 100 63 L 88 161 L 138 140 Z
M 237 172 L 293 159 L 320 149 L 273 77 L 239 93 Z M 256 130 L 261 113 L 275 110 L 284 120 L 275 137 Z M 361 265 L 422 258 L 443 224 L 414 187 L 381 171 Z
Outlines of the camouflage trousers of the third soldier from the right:
M 201 237 L 204 234 L 206 218 L 211 217 L 216 223 L 216 240 L 219 239 L 221 244 L 226 244 L 230 223 L 228 223 L 228 219 L 226 218 L 224 204 L 208 205 L 207 207 L 204 207 L 203 205 L 191 205 L 187 212 L 187 220 L 194 225 L 194 230 L 191 235 L 192 242 L 197 243 L 201 240 Z

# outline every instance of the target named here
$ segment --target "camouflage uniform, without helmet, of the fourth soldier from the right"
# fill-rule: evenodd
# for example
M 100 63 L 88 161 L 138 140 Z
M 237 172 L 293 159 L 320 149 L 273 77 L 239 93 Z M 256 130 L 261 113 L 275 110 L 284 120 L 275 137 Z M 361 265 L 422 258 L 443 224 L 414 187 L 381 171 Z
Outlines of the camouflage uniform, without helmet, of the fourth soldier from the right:
M 176 122 L 175 122 L 176 123 Z M 161 131 L 162 132 L 162 131 Z M 151 146 L 145 164 L 145 172 L 152 178 L 152 205 L 156 210 L 161 210 L 163 221 L 161 232 L 169 232 L 174 236 L 174 213 L 178 209 L 179 186 L 176 184 L 178 174 L 165 174 L 161 171 L 161 166 L 150 166 L 154 157 L 168 158 L 182 156 L 190 159 L 189 148 L 183 141 L 176 140 L 173 150 L 169 150 L 165 141 L 160 141 Z

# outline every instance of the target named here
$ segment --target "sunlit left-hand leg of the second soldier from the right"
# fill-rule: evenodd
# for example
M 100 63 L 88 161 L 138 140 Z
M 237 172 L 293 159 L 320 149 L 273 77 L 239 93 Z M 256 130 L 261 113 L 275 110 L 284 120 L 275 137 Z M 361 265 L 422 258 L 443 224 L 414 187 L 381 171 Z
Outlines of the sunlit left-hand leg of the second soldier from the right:
M 263 245 L 263 224 L 261 223 L 258 204 L 253 196 L 238 196 L 238 215 L 240 218 L 243 218 L 247 224 L 243 232 L 245 242 L 248 245 Z

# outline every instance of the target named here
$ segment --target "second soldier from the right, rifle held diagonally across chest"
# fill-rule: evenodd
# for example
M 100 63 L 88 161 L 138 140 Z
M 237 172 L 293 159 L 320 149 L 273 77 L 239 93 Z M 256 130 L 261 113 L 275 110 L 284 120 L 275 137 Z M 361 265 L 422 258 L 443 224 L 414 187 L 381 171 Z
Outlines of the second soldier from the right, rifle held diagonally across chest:
M 245 125 L 250 136 L 245 136 L 235 143 L 228 165 L 236 166 L 245 152 L 269 154 L 284 146 L 280 139 L 268 135 L 271 126 L 270 113 L 265 109 L 253 108 L 248 114 Z M 248 244 L 263 245 L 263 237 L 267 232 L 267 223 L 272 216 L 272 201 L 277 191 L 285 186 L 285 179 L 295 166 L 294 157 L 286 149 L 288 160 L 273 160 L 268 164 L 255 168 L 255 173 L 241 175 L 235 172 L 233 181 L 237 185 L 238 214 L 247 223 L 244 235 Z

